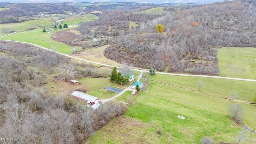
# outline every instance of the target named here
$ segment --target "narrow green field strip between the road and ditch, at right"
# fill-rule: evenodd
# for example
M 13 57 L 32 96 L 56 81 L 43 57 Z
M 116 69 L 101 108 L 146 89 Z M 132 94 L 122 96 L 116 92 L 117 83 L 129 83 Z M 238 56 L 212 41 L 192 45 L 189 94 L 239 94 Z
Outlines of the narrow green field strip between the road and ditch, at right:
M 170 84 L 185 88 L 193 92 L 200 92 L 208 96 L 228 98 L 231 91 L 235 91 L 238 94 L 237 99 L 241 101 L 252 102 L 256 96 L 255 82 L 218 79 L 218 78 L 202 78 L 202 77 L 189 77 L 189 76 L 168 76 L 156 74 L 150 77 L 151 80 L 162 82 L 164 84 Z M 203 82 L 203 88 L 198 90 L 198 82 Z

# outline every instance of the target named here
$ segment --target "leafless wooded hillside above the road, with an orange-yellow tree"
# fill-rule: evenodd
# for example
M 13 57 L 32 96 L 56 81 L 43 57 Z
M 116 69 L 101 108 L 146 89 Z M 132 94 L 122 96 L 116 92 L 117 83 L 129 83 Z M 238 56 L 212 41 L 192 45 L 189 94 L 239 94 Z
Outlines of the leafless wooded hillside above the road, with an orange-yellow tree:
M 218 46 L 256 47 L 255 14 L 256 1 L 237 0 L 167 12 L 147 21 L 138 16 L 139 22 L 130 20 L 139 26 L 120 30 L 118 44 L 109 46 L 105 56 L 140 68 L 163 71 L 169 66 L 168 72 L 216 75 Z M 163 33 L 157 33 L 158 24 Z

